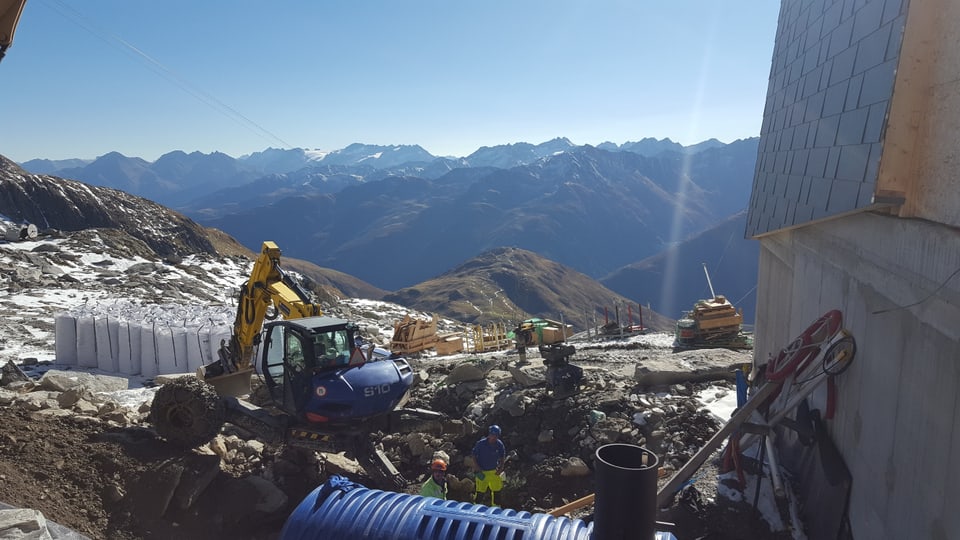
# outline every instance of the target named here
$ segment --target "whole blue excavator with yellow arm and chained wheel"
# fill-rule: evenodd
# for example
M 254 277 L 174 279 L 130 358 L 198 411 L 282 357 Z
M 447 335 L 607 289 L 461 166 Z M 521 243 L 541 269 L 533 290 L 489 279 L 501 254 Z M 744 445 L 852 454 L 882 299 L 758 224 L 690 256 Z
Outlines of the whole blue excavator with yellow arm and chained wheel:
M 390 432 L 404 415 L 441 415 L 403 408 L 413 383 L 407 361 L 363 343 L 354 323 L 324 316 L 281 268 L 280 255 L 274 242 L 263 243 L 240 288 L 229 342 L 195 377 L 157 390 L 151 423 L 161 437 L 184 447 L 205 444 L 229 422 L 267 442 L 348 451 L 372 480 L 405 487 L 371 434 Z M 267 406 L 244 399 L 255 371 L 269 394 Z

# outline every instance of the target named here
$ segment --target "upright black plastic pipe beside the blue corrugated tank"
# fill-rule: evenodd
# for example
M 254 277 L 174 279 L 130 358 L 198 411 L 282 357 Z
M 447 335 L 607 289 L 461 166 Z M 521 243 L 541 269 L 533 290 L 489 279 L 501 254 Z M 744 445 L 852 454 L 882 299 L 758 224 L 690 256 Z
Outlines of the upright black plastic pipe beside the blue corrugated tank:
M 597 448 L 593 540 L 656 537 L 659 463 L 656 454 L 632 444 Z

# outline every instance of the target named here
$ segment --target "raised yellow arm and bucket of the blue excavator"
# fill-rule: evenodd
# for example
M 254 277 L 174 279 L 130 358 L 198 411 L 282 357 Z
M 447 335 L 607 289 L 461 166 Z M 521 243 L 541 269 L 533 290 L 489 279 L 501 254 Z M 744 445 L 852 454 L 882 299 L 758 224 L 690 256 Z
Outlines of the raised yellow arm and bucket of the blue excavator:
M 318 317 L 320 306 L 280 267 L 280 248 L 264 242 L 253 263 L 250 278 L 240 287 L 237 318 L 229 344 L 222 344 L 219 360 L 200 368 L 201 379 L 213 384 L 221 395 L 240 395 L 250 388 L 253 356 L 263 323 L 283 315 L 284 319 Z

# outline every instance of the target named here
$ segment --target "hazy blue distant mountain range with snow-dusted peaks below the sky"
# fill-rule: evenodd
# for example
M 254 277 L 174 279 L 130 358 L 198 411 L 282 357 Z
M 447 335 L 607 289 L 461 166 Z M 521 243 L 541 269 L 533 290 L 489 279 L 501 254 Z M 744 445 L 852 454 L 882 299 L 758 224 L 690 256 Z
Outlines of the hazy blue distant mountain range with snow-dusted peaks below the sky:
M 755 154 L 756 139 L 728 145 L 707 141 L 686 148 L 669 140 L 593 148 L 555 139 L 541 145 L 482 148 L 465 158 L 432 161 L 416 146 L 352 145 L 321 157 L 303 150 L 269 149 L 245 159 L 171 152 L 153 164 L 114 153 L 80 168 L 72 161 L 73 168 L 60 172 L 92 175 L 96 183 L 134 193 L 150 189 L 156 193 L 167 186 L 179 194 L 176 197 L 199 194 L 182 205 L 192 218 L 187 221 L 224 231 L 249 252 L 257 251 L 263 240 L 275 240 L 285 257 L 325 268 L 323 273 L 339 275 L 336 281 L 341 284 L 349 278 L 353 285 L 348 289 L 371 297 L 394 291 L 393 298 L 412 301 L 410 291 L 418 291 L 423 303 L 423 291 L 441 276 L 449 282 L 448 274 L 469 267 L 472 258 L 512 247 L 602 283 L 595 285 L 598 291 L 612 289 L 594 295 L 591 303 L 600 311 L 603 303 L 634 303 L 670 319 L 706 297 L 708 289 L 700 277 L 703 263 L 710 267 L 718 293 L 731 300 L 752 300 L 756 258 L 751 258 L 750 248 L 756 249 L 755 242 L 744 239 L 742 229 L 736 231 L 739 223 L 724 220 L 746 203 Z M 50 162 L 36 165 L 56 167 Z M 295 171 L 248 181 L 251 174 L 299 165 L 303 167 Z M 104 172 L 108 170 L 115 176 Z M 54 224 L 43 215 L 39 209 L 49 207 L 49 202 L 34 201 L 27 205 L 31 211 L 21 208 L 23 201 L 9 202 L 0 213 L 15 221 L 64 230 L 76 226 L 62 220 Z M 150 207 L 144 204 L 138 210 Z M 705 232 L 717 224 L 724 232 Z M 695 247 L 683 247 L 687 245 Z M 629 277 L 638 267 L 647 268 L 646 274 Z M 651 273 L 654 268 L 659 269 Z M 308 276 L 320 272 L 304 270 Z M 518 273 L 537 282 L 543 272 L 534 265 Z M 671 275 L 676 277 L 668 279 Z M 326 279 L 321 277 L 320 282 Z M 578 289 L 583 287 L 555 291 L 553 296 L 582 297 Z M 443 294 L 434 296 L 430 302 L 434 308 L 452 306 L 443 301 Z M 573 308 L 563 301 L 513 301 L 521 306 L 510 308 L 517 315 L 557 318 L 564 312 L 578 324 L 589 316 L 586 307 Z M 469 319 L 487 320 L 474 312 Z M 448 314 L 465 313 L 451 307 Z M 752 306 L 746 306 L 745 316 L 752 321 Z

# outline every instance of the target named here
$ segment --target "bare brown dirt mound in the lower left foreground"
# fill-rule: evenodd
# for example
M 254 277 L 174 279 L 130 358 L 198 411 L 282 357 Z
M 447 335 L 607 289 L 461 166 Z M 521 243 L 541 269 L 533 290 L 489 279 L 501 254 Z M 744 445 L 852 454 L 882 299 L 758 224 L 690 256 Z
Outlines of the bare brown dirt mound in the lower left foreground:
M 90 538 L 266 539 L 282 525 L 237 515 L 256 494 L 220 471 L 219 458 L 185 455 L 149 430 L 6 406 L 0 425 L 0 499 Z M 163 500 L 173 476 L 202 475 L 211 466 L 216 474 L 189 511 L 176 498 Z

